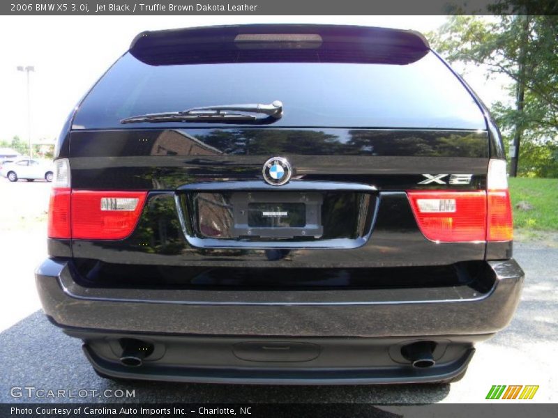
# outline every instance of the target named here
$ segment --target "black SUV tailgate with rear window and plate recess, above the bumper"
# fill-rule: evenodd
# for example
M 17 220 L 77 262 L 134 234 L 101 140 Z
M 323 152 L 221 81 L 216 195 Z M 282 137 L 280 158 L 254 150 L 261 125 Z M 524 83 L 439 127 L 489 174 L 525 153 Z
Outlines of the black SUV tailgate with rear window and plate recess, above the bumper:
M 342 26 L 234 27 L 147 33 L 82 102 L 69 135 L 73 190 L 146 192 L 126 238 L 72 240 L 86 279 L 215 284 L 215 269 L 233 269 L 234 277 L 246 268 L 292 268 L 303 277 L 294 271 L 484 259 L 484 239 L 428 235 L 432 222 L 454 228 L 457 217 L 419 226 L 409 201 L 413 190 L 471 192 L 470 208 L 480 208 L 474 194 L 485 193 L 490 158 L 481 108 L 422 38 Z M 242 31 L 317 33 L 321 41 L 283 39 L 278 48 L 259 38 L 239 42 Z M 204 48 L 195 47 L 200 39 Z M 120 123 L 273 100 L 285 114 L 271 125 Z M 286 185 L 264 181 L 270 157 L 291 164 Z M 444 196 L 441 206 L 453 199 Z

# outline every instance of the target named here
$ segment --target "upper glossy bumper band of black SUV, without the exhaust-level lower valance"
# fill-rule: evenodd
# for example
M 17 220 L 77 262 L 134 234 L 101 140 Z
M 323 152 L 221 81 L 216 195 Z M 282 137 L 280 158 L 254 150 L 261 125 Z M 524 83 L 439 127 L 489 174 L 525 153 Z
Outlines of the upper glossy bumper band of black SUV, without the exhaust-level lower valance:
M 112 332 L 257 336 L 492 334 L 520 300 L 514 260 L 487 262 L 490 291 L 467 286 L 316 291 L 85 288 L 68 261 L 36 271 L 43 308 L 61 327 Z

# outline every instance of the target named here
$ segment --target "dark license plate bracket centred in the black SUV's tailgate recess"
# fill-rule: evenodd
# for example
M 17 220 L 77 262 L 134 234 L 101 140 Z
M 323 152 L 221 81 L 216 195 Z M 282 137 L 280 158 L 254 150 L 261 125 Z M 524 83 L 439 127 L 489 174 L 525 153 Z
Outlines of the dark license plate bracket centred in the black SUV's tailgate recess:
M 320 238 L 322 203 L 317 192 L 235 192 L 234 238 Z

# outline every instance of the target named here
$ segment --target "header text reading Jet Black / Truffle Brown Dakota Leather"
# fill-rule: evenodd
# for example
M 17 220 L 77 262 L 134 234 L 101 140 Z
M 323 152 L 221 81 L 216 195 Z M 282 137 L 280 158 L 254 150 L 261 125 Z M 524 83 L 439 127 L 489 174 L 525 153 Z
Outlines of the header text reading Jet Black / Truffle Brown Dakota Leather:
M 257 4 L 246 3 L 106 3 L 97 4 L 95 12 L 255 12 L 257 10 L 257 7 Z

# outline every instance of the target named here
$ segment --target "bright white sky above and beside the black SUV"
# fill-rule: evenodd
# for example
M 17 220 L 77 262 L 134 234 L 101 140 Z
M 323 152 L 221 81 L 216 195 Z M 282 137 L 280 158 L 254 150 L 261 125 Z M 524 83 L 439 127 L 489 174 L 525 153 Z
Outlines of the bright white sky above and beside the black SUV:
M 31 72 L 31 139 L 53 141 L 66 116 L 133 38 L 145 30 L 212 24 L 326 23 L 434 31 L 444 16 L 0 16 L 0 140 L 28 139 L 26 75 Z M 502 77 L 486 80 L 482 68 L 457 65 L 490 106 L 507 100 Z

